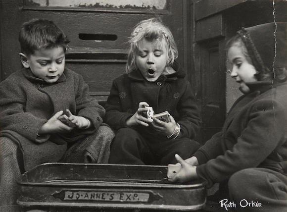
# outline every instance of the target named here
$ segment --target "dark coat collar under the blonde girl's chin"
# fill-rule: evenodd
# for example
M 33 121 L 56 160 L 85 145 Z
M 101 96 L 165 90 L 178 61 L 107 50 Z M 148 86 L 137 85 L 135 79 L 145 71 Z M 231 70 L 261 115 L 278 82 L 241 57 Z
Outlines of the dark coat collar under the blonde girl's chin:
M 171 67 L 176 71 L 175 73 L 168 74 L 168 75 L 161 75 L 157 81 L 173 81 L 177 80 L 178 78 L 184 78 L 186 76 L 185 71 L 181 68 L 180 64 L 177 61 L 171 65 Z M 129 78 L 134 81 L 144 81 L 144 77 L 142 73 L 137 69 L 128 74 Z

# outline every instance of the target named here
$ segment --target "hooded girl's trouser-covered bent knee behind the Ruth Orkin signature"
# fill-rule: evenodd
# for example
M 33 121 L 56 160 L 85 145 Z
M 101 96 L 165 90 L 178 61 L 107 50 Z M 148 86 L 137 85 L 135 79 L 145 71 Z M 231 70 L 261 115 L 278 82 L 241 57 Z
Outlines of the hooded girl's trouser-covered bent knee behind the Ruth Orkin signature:
M 267 168 L 247 168 L 233 174 L 228 182 L 234 211 L 287 211 L 287 176 Z

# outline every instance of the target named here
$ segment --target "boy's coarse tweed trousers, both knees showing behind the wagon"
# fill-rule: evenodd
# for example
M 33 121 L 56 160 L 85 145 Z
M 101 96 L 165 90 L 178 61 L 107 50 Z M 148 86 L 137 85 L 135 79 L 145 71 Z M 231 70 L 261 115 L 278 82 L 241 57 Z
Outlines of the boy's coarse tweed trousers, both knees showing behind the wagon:
M 75 143 L 60 162 L 107 163 L 113 136 L 111 128 L 101 125 L 96 133 Z M 19 212 L 21 209 L 16 204 L 19 190 L 16 180 L 24 168 L 21 159 L 17 144 L 0 137 L 0 212 Z

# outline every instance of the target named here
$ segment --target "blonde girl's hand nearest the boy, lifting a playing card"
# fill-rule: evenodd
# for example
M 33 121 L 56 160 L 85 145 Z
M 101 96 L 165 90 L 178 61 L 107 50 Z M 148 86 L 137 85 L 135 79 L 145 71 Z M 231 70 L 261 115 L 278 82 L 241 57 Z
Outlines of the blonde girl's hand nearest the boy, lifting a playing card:
M 147 127 L 148 124 L 152 122 L 152 120 L 147 119 L 143 116 L 143 112 L 147 111 L 147 108 L 145 108 L 144 106 L 148 106 L 148 104 L 145 102 L 141 102 L 139 104 L 138 110 L 126 122 L 126 125 L 128 127 L 135 126 L 135 125 L 143 125 L 143 126 Z

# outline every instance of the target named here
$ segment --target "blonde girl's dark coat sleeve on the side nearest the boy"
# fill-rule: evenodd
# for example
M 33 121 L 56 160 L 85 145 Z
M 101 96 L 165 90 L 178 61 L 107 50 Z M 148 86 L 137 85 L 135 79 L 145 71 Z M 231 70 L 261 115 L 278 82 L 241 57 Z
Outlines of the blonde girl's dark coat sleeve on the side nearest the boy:
M 126 127 L 126 120 L 133 114 L 128 112 L 122 112 L 122 106 L 120 101 L 119 89 L 116 80 L 113 81 L 110 95 L 107 99 L 106 105 L 105 123 L 110 125 L 113 129 L 120 129 Z

